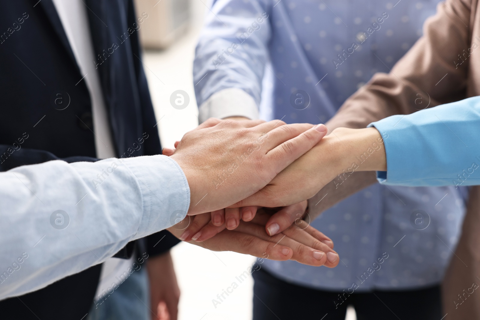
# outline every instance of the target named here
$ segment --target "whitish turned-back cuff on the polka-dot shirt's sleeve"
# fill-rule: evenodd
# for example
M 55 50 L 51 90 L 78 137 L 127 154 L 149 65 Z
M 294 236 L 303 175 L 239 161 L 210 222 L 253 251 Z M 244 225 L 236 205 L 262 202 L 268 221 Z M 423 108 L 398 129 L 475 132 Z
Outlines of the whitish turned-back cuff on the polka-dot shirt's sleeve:
M 246 117 L 258 119 L 258 106 L 252 96 L 239 88 L 223 89 L 211 95 L 199 108 L 198 118 Z

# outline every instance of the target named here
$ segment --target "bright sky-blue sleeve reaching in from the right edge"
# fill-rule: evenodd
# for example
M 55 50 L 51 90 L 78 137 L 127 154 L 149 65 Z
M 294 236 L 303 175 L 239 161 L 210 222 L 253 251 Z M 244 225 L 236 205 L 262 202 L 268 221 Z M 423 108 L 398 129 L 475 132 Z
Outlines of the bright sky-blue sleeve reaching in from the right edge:
M 371 123 L 384 137 L 387 171 L 401 186 L 480 185 L 480 97 Z

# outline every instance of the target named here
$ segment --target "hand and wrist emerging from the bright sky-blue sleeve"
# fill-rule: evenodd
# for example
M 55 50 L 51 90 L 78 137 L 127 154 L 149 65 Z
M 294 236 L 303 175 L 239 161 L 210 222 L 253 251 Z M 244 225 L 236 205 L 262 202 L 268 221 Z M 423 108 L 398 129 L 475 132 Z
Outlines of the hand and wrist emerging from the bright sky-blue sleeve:
M 262 190 L 231 207 L 298 203 L 312 198 L 336 177 L 341 182 L 355 171 L 386 170 L 385 163 L 383 139 L 375 128 L 337 128 Z

